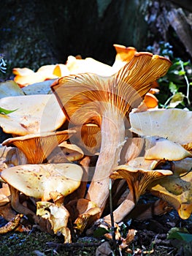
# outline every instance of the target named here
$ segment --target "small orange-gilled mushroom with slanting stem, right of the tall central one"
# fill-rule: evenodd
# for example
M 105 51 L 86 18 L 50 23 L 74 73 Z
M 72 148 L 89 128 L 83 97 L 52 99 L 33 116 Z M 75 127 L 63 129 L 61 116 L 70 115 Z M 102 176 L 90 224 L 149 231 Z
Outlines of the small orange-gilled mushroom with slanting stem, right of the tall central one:
M 140 195 L 144 194 L 154 181 L 170 175 L 172 175 L 171 170 L 145 170 L 128 165 L 120 165 L 114 168 L 110 178 L 125 178 L 129 189 L 126 200 L 113 211 L 114 222 L 120 222 L 130 213 L 137 204 Z M 109 222 L 110 216 L 104 217 L 104 220 Z

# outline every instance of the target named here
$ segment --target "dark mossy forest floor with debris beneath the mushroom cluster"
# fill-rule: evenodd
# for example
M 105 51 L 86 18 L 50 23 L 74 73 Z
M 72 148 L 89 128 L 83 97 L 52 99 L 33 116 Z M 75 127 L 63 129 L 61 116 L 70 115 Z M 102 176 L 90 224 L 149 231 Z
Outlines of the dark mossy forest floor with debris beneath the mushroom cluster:
M 0 225 L 4 225 L 0 219 Z M 125 256 L 191 256 L 192 242 L 186 243 L 177 239 L 167 239 L 167 233 L 172 227 L 185 227 L 192 233 L 192 219 L 180 219 L 176 211 L 170 211 L 162 216 L 147 220 L 131 219 L 123 222 L 124 232 L 129 229 L 137 230 L 134 240 L 128 245 L 130 252 L 122 252 Z M 125 228 L 126 227 L 126 228 Z M 0 235 L 1 255 L 96 255 L 96 249 L 107 241 L 104 236 L 95 238 L 85 233 L 72 244 L 63 244 L 61 236 L 52 236 L 45 232 L 32 229 L 30 232 L 18 233 L 14 230 Z M 112 248 L 112 241 L 109 241 Z M 97 252 L 98 253 L 98 252 Z M 97 254 L 99 255 L 99 254 Z M 100 254 L 107 255 L 107 254 Z M 112 255 L 112 252 L 108 255 Z M 117 253 L 113 255 L 118 255 Z

